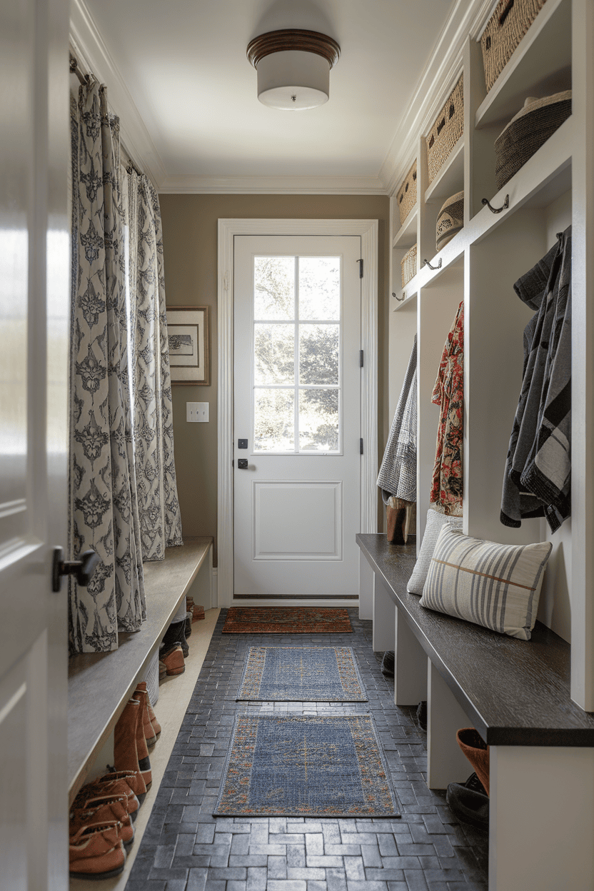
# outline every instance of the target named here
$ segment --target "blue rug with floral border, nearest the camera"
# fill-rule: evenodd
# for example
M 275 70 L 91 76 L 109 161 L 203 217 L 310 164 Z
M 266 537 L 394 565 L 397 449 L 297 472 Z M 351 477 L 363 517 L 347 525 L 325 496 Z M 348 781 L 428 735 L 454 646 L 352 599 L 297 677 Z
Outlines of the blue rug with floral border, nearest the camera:
M 213 813 L 400 816 L 370 715 L 238 715 Z

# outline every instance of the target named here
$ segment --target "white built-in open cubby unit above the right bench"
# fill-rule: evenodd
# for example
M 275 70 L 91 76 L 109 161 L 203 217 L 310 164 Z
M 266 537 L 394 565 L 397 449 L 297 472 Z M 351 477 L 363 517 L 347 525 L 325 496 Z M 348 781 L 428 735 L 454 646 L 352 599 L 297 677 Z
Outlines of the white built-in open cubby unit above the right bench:
M 431 391 L 463 299 L 464 530 L 504 544 L 553 544 L 538 617 L 571 643 L 572 698 L 594 711 L 594 4 L 547 0 L 487 93 L 480 36 L 494 8 L 494 2 L 485 10 L 473 0 L 468 36 L 439 69 L 449 74 L 437 75 L 427 96 L 418 97 L 417 204 L 402 226 L 396 207 L 391 216 L 390 293 L 397 299 L 390 297 L 389 403 L 393 412 L 416 331 L 419 547 L 435 460 L 438 410 Z M 425 136 L 461 72 L 464 133 L 429 183 Z M 573 89 L 571 117 L 497 190 L 494 140 L 527 96 L 567 89 Z M 404 145 L 395 181 L 402 181 L 412 160 Z M 464 228 L 436 251 L 439 209 L 462 189 Z M 500 523 L 501 484 L 522 383 L 523 332 L 533 315 L 517 297 L 514 282 L 568 225 L 573 225 L 573 505 L 572 518 L 551 535 L 543 519 L 524 520 L 517 529 Z M 415 241 L 418 273 L 403 289 L 400 260 Z

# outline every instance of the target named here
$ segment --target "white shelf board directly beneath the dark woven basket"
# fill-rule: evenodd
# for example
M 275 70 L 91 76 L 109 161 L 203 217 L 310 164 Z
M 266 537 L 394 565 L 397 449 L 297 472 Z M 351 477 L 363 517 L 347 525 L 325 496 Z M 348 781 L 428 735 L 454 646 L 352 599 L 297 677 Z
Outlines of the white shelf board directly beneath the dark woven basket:
M 509 195 L 509 208 L 500 214 L 492 214 L 488 207 L 472 218 L 467 237 L 471 244 L 482 241 L 509 214 L 518 208 L 546 208 L 572 185 L 572 156 L 574 146 L 574 119 L 568 118 L 541 148 L 526 161 L 524 167 L 512 176 L 497 194 L 492 206 L 500 208 Z M 465 230 L 462 229 L 462 233 Z M 460 236 L 459 233 L 456 238 Z

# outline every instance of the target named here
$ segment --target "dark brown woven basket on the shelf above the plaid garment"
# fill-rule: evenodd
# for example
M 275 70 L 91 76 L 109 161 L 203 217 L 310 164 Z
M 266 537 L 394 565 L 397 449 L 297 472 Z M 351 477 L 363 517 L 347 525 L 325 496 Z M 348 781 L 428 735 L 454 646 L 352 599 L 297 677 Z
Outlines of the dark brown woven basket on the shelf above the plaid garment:
M 499 191 L 572 113 L 572 91 L 526 99 L 525 106 L 495 140 L 495 184 Z

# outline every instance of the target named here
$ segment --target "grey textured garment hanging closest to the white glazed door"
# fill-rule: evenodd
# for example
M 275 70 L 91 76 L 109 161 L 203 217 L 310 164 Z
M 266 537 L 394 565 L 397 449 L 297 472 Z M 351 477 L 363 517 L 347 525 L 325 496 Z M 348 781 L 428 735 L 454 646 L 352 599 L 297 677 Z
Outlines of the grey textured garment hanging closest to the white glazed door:
M 403 389 L 387 438 L 378 473 L 384 504 L 390 496 L 405 502 L 417 500 L 417 336 L 404 377 Z

